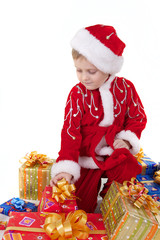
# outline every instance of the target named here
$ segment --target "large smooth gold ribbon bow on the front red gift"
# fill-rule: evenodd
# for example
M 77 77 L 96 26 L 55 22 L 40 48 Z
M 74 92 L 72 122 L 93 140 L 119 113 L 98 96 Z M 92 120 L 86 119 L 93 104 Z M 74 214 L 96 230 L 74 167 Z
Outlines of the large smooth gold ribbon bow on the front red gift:
M 87 214 L 83 210 L 70 212 L 66 219 L 65 215 L 52 213 L 46 217 L 44 230 L 51 239 L 86 239 L 90 231 L 86 223 Z

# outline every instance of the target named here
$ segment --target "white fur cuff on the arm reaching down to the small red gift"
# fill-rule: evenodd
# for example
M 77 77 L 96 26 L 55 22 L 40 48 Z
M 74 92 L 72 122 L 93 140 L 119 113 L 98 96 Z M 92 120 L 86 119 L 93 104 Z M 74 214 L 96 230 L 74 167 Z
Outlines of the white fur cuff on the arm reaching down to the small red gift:
M 51 178 L 54 178 L 61 172 L 71 174 L 73 176 L 73 182 L 76 182 L 80 178 L 80 166 L 78 163 L 71 160 L 63 160 L 53 164 L 51 169 Z

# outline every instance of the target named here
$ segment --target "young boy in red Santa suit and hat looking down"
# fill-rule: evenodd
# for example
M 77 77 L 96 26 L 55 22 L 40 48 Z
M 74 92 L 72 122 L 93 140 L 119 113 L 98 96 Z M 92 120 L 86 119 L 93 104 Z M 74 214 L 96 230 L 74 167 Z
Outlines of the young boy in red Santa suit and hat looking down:
M 146 115 L 134 85 L 115 76 L 123 64 L 125 44 L 111 26 L 78 31 L 71 41 L 80 83 L 69 93 L 61 133 L 61 150 L 52 168 L 51 186 L 61 178 L 74 182 L 80 209 L 94 212 L 101 178 L 123 183 L 141 173 L 134 154 Z

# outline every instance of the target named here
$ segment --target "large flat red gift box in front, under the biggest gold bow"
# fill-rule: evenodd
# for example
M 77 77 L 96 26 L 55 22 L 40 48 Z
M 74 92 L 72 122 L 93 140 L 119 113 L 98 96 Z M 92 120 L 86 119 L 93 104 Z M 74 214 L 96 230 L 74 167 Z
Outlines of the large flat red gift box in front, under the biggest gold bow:
M 49 240 L 45 232 L 47 213 L 15 213 L 12 212 L 2 240 Z M 87 214 L 88 240 L 107 240 L 101 214 Z M 71 238 L 70 238 L 71 239 Z

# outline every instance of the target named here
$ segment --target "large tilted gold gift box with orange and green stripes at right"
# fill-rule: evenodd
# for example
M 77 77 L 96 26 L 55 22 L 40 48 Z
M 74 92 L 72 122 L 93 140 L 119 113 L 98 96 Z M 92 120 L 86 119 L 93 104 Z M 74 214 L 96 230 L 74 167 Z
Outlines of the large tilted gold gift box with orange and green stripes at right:
M 113 182 L 100 205 L 108 239 L 160 239 L 155 215 L 143 206 L 137 208 L 124 197 L 121 186 Z

